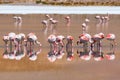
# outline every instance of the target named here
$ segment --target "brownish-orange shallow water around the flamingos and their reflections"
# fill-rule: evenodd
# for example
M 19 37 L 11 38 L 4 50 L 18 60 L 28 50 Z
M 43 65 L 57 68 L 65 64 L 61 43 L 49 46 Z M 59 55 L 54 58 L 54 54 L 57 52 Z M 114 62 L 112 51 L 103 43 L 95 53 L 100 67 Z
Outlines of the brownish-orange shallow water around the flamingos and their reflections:
M 42 52 L 38 55 L 38 59 L 36 61 L 30 61 L 27 56 L 25 56 L 22 60 L 6 60 L 3 59 L 2 53 L 4 52 L 4 48 L 0 48 L 0 74 L 2 75 L 3 80 L 7 80 L 5 76 L 12 79 L 10 75 L 16 76 L 15 79 L 22 79 L 20 76 L 25 76 L 26 79 L 93 79 L 93 80 L 119 80 L 119 44 L 120 44 L 120 15 L 110 15 L 110 21 L 108 26 L 100 25 L 100 29 L 98 32 L 103 32 L 105 35 L 108 33 L 114 33 L 116 35 L 117 49 L 115 51 L 115 60 L 109 61 L 106 58 L 100 62 L 94 61 L 93 58 L 89 61 L 81 60 L 76 54 L 76 48 L 74 50 L 75 58 L 73 61 L 68 62 L 66 60 L 66 54 L 61 60 L 56 60 L 54 63 L 51 63 L 47 59 L 47 53 L 49 52 L 49 44 L 47 42 L 47 37 L 52 33 L 50 30 L 44 34 L 43 25 L 41 21 L 45 19 L 45 14 L 37 14 L 37 15 L 21 15 L 23 18 L 23 23 L 21 29 L 19 30 L 14 25 L 13 16 L 15 14 L 1 14 L 0 15 L 0 44 L 4 45 L 2 41 L 2 36 L 8 34 L 9 32 L 23 32 L 26 35 L 30 32 L 35 32 L 38 36 L 38 41 L 43 45 Z M 101 14 L 104 16 L 106 14 Z M 58 14 L 50 14 L 51 17 L 58 20 L 58 24 L 54 29 L 56 35 L 72 35 L 74 37 L 74 46 L 76 46 L 76 41 L 78 40 L 78 36 L 82 33 L 81 24 L 84 22 L 85 18 L 90 19 L 88 33 L 94 35 L 97 33 L 96 24 L 98 21 L 95 19 L 95 15 L 90 14 L 76 14 L 70 15 L 71 17 L 71 25 L 70 27 L 66 26 L 66 22 L 64 17 L 66 15 L 58 15 Z M 65 41 L 66 42 L 66 41 Z M 106 54 L 109 52 L 109 42 L 104 39 L 103 40 L 103 52 Z M 107 47 L 107 48 L 106 48 Z M 7 71 L 7 72 L 6 72 Z M 30 71 L 30 72 L 29 72 Z M 31 76 L 29 76 L 29 75 Z M 38 76 L 32 76 L 36 74 Z M 70 76 L 66 75 L 69 74 Z M 46 77 L 48 76 L 48 77 Z

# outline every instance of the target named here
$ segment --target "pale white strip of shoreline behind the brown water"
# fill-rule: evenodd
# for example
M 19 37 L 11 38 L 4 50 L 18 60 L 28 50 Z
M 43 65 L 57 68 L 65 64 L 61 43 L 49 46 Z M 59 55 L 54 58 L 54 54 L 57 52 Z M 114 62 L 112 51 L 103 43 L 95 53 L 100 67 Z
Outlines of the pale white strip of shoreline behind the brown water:
M 0 14 L 120 14 L 119 6 L 0 5 Z

